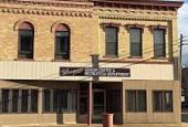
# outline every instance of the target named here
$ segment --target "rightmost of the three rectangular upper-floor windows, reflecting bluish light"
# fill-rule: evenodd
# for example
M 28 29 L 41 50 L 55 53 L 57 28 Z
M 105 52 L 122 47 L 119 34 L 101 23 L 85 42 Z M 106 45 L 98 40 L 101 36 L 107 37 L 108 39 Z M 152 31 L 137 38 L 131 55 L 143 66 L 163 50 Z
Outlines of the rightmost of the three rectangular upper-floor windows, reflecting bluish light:
M 165 57 L 165 29 L 154 30 L 154 57 Z

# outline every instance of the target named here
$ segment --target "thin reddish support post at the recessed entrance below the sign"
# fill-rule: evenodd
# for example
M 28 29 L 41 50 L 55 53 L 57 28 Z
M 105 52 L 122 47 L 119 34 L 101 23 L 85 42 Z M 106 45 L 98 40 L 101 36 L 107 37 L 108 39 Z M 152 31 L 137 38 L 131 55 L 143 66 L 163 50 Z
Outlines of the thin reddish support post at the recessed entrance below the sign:
M 92 115 L 93 115 L 93 88 L 92 88 L 92 81 L 88 84 L 88 125 L 92 124 Z

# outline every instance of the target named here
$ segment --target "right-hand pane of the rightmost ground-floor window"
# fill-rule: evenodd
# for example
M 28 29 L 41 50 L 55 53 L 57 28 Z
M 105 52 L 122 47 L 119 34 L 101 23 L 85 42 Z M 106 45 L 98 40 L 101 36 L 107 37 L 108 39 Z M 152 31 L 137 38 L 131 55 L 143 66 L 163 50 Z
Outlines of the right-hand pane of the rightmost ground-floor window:
M 164 107 L 165 112 L 173 112 L 173 92 L 164 93 Z

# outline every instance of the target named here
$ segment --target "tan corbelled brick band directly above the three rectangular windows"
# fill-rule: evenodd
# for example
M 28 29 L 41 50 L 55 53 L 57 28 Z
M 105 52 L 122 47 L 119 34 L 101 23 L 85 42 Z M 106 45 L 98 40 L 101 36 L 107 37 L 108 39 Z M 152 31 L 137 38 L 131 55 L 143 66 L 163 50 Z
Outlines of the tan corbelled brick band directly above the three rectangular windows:
M 100 19 L 113 20 L 169 21 L 177 19 L 176 11 L 95 8 L 94 12 Z

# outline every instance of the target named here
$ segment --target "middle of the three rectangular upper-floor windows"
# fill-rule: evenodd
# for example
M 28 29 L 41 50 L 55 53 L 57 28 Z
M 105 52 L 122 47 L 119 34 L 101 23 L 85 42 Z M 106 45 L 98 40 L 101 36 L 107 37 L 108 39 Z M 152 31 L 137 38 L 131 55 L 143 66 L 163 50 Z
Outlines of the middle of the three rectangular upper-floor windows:
M 142 28 L 130 28 L 130 56 L 142 56 Z

